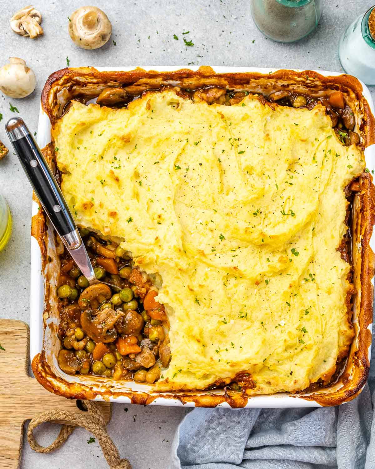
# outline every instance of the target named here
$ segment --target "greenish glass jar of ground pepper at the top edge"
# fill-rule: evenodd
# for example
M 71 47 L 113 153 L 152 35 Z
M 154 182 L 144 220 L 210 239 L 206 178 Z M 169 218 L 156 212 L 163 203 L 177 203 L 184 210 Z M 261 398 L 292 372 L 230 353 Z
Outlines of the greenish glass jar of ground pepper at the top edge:
M 321 0 L 250 0 L 250 7 L 257 28 L 278 42 L 304 38 L 322 15 Z

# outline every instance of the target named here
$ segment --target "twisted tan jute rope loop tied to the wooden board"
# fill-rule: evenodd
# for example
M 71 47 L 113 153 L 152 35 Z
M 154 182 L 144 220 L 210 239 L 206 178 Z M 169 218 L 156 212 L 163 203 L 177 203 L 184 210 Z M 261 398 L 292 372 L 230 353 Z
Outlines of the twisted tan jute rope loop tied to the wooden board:
M 27 439 L 31 448 L 37 453 L 51 453 L 65 443 L 76 426 L 85 428 L 98 439 L 105 459 L 111 469 L 132 469 L 127 459 L 120 459 L 120 454 L 105 428 L 105 420 L 102 411 L 95 401 L 82 401 L 87 408 L 87 415 L 77 414 L 70 410 L 50 410 L 43 412 L 30 421 L 27 430 Z M 34 438 L 33 431 L 45 422 L 65 420 L 71 425 L 62 425 L 55 441 L 47 447 L 40 446 Z

